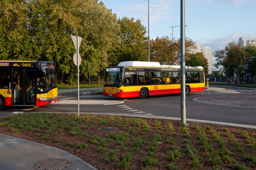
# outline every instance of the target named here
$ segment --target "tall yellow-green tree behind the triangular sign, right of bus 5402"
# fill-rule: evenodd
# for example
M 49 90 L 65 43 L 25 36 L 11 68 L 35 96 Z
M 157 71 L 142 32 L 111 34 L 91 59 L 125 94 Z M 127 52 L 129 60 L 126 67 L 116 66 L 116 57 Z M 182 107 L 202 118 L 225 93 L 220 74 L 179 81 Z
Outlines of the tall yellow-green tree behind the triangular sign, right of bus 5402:
M 81 14 L 87 11 L 88 1 L 44 1 L 30 0 L 28 28 L 30 37 L 36 43 L 40 55 L 34 60 L 46 60 L 56 63 L 62 84 L 65 74 L 68 82 L 74 84 L 74 64 L 72 57 L 75 48 L 71 34 L 81 27 Z M 71 78 L 70 78 L 71 77 Z

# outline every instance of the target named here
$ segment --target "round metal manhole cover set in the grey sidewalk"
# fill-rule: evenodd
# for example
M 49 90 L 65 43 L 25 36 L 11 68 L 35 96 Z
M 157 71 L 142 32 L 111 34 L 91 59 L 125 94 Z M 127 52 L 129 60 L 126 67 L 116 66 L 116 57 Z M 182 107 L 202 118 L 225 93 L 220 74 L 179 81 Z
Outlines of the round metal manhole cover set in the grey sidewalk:
M 72 162 L 62 159 L 41 161 L 33 166 L 36 170 L 62 170 L 72 166 Z

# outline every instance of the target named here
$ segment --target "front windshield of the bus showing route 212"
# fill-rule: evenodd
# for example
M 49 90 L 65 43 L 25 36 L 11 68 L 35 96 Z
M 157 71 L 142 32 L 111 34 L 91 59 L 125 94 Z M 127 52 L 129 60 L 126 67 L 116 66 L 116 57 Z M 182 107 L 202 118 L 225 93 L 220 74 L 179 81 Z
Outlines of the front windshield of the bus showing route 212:
M 108 86 L 122 86 L 123 73 L 122 72 L 106 72 L 104 85 Z

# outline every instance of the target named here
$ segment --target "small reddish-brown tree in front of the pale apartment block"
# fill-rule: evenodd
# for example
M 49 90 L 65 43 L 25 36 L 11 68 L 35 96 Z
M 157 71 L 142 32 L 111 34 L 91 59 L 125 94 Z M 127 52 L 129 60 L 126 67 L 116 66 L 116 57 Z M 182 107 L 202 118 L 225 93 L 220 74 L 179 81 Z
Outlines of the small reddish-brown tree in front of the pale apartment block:
M 186 60 L 186 66 L 202 66 L 206 68 L 205 72 L 208 73 L 209 69 L 207 59 L 204 57 L 202 52 L 197 52 L 196 54 L 189 54 Z

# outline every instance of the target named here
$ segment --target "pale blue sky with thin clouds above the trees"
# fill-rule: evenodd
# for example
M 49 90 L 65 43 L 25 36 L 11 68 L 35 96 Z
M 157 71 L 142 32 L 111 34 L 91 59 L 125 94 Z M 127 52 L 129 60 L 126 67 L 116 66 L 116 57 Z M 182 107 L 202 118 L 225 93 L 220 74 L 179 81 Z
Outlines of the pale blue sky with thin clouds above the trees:
M 180 38 L 180 27 L 172 28 L 181 25 L 179 0 L 101 1 L 117 14 L 117 18 L 126 16 L 141 20 L 147 31 L 149 7 L 150 39 Z M 185 36 L 212 49 L 214 64 L 215 50 L 224 50 L 228 43 L 239 41 L 240 37 L 256 40 L 255 7 L 256 0 L 185 0 Z

